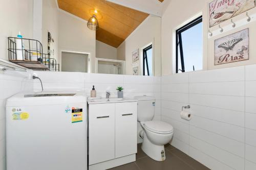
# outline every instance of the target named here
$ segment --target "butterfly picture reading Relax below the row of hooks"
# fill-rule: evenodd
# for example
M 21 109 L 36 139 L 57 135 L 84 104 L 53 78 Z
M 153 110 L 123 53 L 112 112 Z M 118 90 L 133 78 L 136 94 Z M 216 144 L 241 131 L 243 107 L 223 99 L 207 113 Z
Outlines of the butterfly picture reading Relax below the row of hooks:
M 249 60 L 249 29 L 216 39 L 214 65 Z

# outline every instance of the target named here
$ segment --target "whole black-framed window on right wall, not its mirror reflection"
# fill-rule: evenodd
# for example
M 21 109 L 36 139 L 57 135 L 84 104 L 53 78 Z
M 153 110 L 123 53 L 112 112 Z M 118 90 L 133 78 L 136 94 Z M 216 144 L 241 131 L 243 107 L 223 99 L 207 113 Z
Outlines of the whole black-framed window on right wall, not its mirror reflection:
M 203 69 L 202 16 L 176 30 L 176 73 Z

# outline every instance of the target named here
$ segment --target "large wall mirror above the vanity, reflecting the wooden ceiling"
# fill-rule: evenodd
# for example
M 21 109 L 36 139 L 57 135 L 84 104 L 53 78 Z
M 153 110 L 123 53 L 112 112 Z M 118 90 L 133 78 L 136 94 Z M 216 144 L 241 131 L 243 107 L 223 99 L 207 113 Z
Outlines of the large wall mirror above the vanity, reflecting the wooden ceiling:
M 81 71 L 83 66 L 81 72 L 161 75 L 160 17 L 103 0 L 59 0 L 58 6 L 60 71 Z M 86 22 L 93 15 L 99 23 L 96 31 Z M 74 51 L 87 53 L 87 61 L 71 59 Z M 67 69 L 67 63 L 76 66 Z

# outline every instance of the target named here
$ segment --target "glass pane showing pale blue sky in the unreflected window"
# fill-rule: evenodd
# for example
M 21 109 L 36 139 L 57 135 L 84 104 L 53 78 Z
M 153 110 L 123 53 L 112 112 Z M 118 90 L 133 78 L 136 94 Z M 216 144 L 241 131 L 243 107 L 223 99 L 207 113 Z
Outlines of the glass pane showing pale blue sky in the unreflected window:
M 202 22 L 181 33 L 185 71 L 203 69 Z

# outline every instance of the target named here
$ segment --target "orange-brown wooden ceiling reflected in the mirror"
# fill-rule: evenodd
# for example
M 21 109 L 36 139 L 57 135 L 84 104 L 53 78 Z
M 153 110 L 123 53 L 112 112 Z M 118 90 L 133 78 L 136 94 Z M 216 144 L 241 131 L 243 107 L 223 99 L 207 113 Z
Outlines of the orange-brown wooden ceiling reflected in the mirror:
M 116 48 L 148 16 L 105 0 L 58 0 L 58 5 L 60 9 L 85 20 L 95 14 L 99 22 L 96 39 Z

